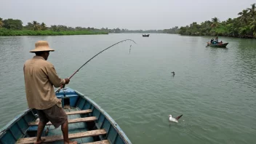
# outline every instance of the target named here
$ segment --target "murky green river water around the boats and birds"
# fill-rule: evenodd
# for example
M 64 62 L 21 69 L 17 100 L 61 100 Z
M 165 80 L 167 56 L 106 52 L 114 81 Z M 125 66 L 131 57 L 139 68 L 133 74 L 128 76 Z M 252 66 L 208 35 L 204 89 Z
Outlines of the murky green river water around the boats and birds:
M 101 105 L 132 143 L 255 143 L 256 40 L 151 34 L 0 37 L 0 127 L 27 108 L 23 63 L 38 40 L 55 49 L 61 77 L 82 68 L 68 87 Z M 129 46 L 132 44 L 131 53 Z M 175 71 L 172 76 L 171 71 Z M 178 124 L 168 116 L 183 114 Z

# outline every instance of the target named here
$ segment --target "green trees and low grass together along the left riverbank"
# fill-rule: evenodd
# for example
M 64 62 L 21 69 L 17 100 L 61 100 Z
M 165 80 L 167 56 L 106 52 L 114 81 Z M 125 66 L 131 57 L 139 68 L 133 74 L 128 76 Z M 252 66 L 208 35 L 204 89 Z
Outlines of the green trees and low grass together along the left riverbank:
M 0 17 L 0 36 L 57 36 L 57 35 L 89 35 L 108 34 L 108 31 L 96 28 L 67 27 L 65 25 L 51 25 L 33 21 L 23 26 L 21 20 L 7 19 Z

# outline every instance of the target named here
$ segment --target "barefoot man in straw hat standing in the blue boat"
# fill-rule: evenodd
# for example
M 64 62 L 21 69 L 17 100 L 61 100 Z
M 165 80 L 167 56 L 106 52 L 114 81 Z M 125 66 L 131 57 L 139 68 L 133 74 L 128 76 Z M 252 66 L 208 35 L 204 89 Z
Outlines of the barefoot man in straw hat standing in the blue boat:
M 47 61 L 50 51 L 47 41 L 37 41 L 36 48 L 31 50 L 36 54 L 27 60 L 23 66 L 25 93 L 28 108 L 35 108 L 39 115 L 39 126 L 35 143 L 44 143 L 41 133 L 48 121 L 55 128 L 60 127 L 63 132 L 64 143 L 76 144 L 76 141 L 68 140 L 68 116 L 62 108 L 61 101 L 57 99 L 53 86 L 60 87 L 69 83 L 69 79 L 60 79 L 55 67 Z

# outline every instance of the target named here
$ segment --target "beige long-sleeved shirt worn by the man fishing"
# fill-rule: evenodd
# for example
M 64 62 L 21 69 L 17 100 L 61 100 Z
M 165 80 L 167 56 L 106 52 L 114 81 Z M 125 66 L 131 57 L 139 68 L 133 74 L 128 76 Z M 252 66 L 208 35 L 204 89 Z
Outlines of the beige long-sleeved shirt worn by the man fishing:
M 35 56 L 24 64 L 25 93 L 29 108 L 44 110 L 60 102 L 53 86 L 60 87 L 65 79 L 57 76 L 54 66 L 43 57 Z

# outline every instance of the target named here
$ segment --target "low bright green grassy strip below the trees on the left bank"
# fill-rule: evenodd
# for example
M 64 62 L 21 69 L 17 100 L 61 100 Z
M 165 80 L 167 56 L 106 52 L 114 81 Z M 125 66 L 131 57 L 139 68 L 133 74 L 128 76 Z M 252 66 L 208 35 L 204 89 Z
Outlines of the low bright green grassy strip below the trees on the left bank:
M 94 35 L 94 34 L 108 34 L 104 31 L 31 31 L 31 30 L 8 30 L 0 29 L 0 36 L 61 36 L 61 35 Z

